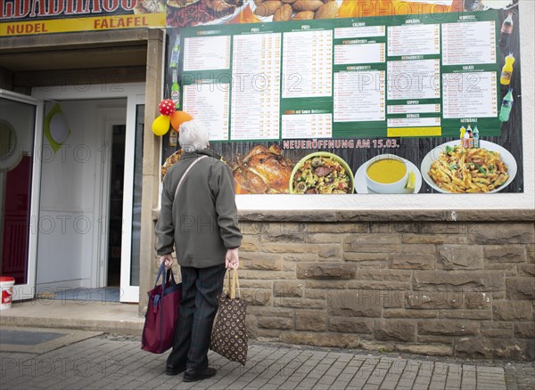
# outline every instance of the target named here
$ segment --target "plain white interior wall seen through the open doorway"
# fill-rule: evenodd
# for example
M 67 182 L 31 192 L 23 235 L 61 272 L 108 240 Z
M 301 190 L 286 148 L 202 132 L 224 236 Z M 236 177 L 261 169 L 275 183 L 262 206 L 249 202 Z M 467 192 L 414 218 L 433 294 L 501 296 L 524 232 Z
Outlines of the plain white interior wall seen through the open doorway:
M 44 140 L 38 221 L 37 291 L 42 288 L 95 286 L 98 243 L 107 229 L 100 215 L 101 173 L 109 164 L 99 110 L 125 108 L 126 100 L 60 102 L 70 137 L 53 152 Z M 46 103 L 45 115 L 53 106 Z M 108 201 L 107 199 L 105 201 Z

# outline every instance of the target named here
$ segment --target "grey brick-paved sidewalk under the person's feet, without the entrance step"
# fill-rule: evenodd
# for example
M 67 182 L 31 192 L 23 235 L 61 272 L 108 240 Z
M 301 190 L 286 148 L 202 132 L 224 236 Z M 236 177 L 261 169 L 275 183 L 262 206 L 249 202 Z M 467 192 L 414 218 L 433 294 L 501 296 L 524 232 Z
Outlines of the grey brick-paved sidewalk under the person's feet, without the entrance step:
M 147 353 L 140 346 L 139 337 L 101 334 L 45 353 L 0 352 L 0 383 L 6 390 L 535 388 L 533 362 L 456 361 L 261 343 L 250 345 L 245 366 L 210 352 L 210 366 L 218 374 L 185 383 L 182 375 L 165 375 L 169 353 Z

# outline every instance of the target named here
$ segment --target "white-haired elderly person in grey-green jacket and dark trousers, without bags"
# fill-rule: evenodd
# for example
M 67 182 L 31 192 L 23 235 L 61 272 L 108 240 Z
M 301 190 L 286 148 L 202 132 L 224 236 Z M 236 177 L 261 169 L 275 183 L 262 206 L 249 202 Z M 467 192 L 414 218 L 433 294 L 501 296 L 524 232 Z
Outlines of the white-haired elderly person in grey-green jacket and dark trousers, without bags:
M 207 129 L 191 120 L 179 127 L 185 151 L 163 181 L 161 213 L 156 224 L 156 252 L 173 264 L 173 247 L 182 274 L 182 301 L 166 374 L 185 371 L 192 382 L 213 377 L 208 349 L 226 268 L 239 265 L 234 181 L 230 169 L 209 148 Z M 180 183 L 180 185 L 179 185 Z

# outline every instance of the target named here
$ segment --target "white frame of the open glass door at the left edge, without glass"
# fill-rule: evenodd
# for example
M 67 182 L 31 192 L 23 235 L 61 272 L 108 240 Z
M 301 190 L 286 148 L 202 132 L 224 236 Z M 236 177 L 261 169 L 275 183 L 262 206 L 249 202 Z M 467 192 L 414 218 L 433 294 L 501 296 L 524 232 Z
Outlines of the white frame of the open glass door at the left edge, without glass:
M 0 97 L 15 102 L 31 104 L 36 107 L 34 124 L 34 144 L 31 169 L 31 189 L 29 203 L 29 243 L 28 243 L 28 273 L 26 284 L 13 286 L 13 301 L 32 299 L 36 297 L 37 280 L 37 236 L 39 231 L 39 197 L 41 194 L 41 152 L 43 150 L 43 123 L 45 103 L 34 97 L 6 91 L 0 88 Z

